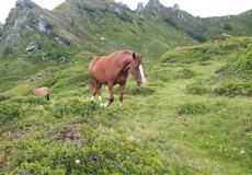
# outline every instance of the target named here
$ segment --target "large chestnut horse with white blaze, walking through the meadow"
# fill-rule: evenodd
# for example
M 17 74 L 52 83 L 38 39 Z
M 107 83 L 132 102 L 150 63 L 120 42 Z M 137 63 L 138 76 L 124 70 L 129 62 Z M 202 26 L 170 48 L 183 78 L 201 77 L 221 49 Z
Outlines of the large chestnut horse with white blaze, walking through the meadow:
M 115 84 L 119 84 L 119 102 L 122 106 L 128 72 L 131 73 L 139 86 L 146 82 L 142 68 L 142 56 L 137 56 L 131 51 L 116 51 L 110 56 L 93 58 L 89 63 L 92 100 L 98 95 L 101 107 L 110 106 L 114 101 L 113 88 Z M 102 103 L 101 88 L 103 84 L 108 86 L 110 100 L 107 105 Z

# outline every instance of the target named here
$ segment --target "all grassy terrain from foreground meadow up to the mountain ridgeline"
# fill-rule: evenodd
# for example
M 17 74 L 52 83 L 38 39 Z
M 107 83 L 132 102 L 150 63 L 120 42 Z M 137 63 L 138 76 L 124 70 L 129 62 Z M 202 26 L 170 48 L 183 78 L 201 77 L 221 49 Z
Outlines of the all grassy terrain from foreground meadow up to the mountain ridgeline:
M 198 19 L 111 0 L 54 11 L 22 2 L 0 26 L 0 175 L 251 174 L 252 38 L 216 37 L 251 35 L 250 12 Z M 26 51 L 31 43 L 39 48 Z M 145 55 L 148 83 L 130 77 L 124 106 L 116 88 L 100 108 L 88 62 L 117 49 Z M 50 102 L 31 95 L 36 86 L 50 89 Z

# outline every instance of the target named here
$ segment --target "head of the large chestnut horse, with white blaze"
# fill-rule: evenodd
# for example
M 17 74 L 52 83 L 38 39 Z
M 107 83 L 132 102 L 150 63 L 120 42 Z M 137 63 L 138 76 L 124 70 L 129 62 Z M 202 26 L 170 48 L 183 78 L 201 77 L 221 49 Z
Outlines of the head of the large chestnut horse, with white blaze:
M 142 56 L 137 56 L 135 52 L 133 54 L 133 62 L 129 68 L 129 72 L 135 78 L 137 85 L 141 86 L 146 83 L 146 78 L 144 74 L 144 67 L 142 67 Z

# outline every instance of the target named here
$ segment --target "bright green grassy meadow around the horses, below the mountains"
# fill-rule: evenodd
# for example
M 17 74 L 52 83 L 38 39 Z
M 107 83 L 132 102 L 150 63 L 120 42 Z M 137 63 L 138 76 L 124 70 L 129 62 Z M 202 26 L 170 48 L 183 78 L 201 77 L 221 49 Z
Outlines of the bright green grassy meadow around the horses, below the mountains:
M 95 54 L 60 66 L 1 61 L 0 174 L 251 174 L 251 43 L 230 38 L 146 58 L 148 82 L 137 88 L 130 77 L 122 108 L 118 88 L 110 108 L 90 100 Z M 31 96 L 43 85 L 50 102 Z

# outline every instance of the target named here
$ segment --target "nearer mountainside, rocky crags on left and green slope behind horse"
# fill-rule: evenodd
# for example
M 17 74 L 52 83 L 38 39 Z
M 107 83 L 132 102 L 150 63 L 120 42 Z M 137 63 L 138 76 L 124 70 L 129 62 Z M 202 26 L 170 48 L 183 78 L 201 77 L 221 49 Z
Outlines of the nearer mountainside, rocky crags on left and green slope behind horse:
M 13 51 L 16 54 L 20 46 L 27 46 L 27 40 L 31 40 L 27 37 L 33 38 L 28 34 L 34 33 L 42 35 L 42 39 L 48 38 L 62 45 L 70 43 L 71 48 L 76 49 L 92 52 L 133 49 L 152 59 L 168 48 L 194 43 L 186 33 L 154 16 L 146 19 L 125 5 L 102 0 L 68 0 L 53 12 L 41 9 L 30 0 L 19 0 L 7 20 L 3 33 L 3 56 Z M 67 40 L 66 44 L 64 40 Z M 25 52 L 24 48 L 22 51 Z

